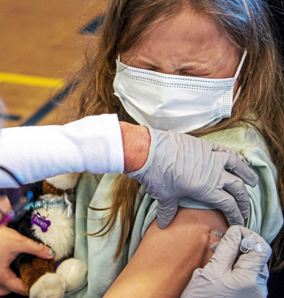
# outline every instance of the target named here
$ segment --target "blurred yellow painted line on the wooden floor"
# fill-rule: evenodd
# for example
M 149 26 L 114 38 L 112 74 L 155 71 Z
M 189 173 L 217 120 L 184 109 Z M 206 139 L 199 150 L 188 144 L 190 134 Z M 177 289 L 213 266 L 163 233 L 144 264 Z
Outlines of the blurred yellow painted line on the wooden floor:
M 31 75 L 21 75 L 10 72 L 0 72 L 0 83 L 10 83 L 28 86 L 61 88 L 64 86 L 64 80 L 51 77 L 38 77 Z

